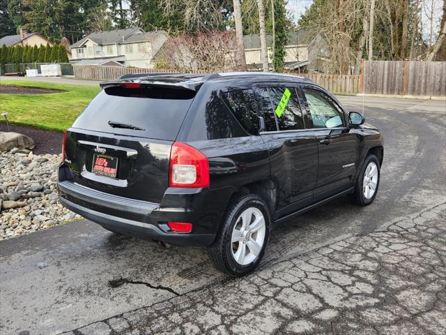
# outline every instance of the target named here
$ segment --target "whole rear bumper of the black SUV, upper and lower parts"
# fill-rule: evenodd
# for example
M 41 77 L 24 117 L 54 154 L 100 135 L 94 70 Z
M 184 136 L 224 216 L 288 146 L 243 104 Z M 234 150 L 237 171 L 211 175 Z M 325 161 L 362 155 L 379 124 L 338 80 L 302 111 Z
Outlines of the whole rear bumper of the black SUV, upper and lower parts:
M 127 198 L 75 182 L 67 165 L 59 165 L 59 198 L 75 213 L 105 228 L 141 239 L 157 239 L 185 246 L 209 246 L 233 193 L 231 186 L 168 187 L 160 202 Z M 192 232 L 171 232 L 167 222 L 192 223 Z

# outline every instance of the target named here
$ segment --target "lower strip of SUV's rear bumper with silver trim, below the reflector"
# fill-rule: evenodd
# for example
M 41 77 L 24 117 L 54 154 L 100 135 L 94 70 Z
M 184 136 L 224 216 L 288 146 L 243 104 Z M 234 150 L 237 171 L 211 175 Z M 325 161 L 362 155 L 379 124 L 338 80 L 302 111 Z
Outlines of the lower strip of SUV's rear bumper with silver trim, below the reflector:
M 84 218 L 121 234 L 128 234 L 140 239 L 156 239 L 180 246 L 208 246 L 215 239 L 215 234 L 175 234 L 163 232 L 156 225 L 121 218 L 82 207 L 75 202 L 60 197 L 63 206 L 82 215 Z

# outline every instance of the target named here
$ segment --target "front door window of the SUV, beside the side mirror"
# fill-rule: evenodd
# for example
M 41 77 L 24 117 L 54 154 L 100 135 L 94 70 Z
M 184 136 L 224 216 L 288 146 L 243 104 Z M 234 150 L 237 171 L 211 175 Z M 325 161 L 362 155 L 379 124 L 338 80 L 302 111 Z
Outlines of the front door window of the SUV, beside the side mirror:
M 344 126 L 342 112 L 330 97 L 317 89 L 303 89 L 314 128 L 335 128 Z

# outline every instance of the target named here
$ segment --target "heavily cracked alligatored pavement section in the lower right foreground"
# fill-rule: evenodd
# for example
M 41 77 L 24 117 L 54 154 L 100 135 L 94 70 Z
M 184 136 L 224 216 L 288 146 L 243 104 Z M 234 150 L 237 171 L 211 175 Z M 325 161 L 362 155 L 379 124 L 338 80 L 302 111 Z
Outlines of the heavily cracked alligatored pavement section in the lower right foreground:
M 66 335 L 446 334 L 446 204 Z

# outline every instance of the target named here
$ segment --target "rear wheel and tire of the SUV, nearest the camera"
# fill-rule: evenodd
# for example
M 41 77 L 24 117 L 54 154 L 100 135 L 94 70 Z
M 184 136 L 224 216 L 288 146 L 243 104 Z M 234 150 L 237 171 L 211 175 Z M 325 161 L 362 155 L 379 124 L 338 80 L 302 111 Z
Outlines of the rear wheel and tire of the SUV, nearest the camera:
M 270 227 L 270 212 L 258 195 L 249 194 L 236 198 L 226 210 L 220 234 L 208 247 L 213 265 L 233 277 L 251 273 L 263 258 L 270 237 Z M 236 239 L 238 241 L 234 242 Z

